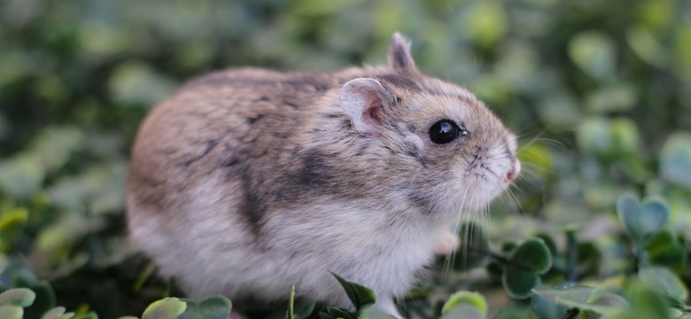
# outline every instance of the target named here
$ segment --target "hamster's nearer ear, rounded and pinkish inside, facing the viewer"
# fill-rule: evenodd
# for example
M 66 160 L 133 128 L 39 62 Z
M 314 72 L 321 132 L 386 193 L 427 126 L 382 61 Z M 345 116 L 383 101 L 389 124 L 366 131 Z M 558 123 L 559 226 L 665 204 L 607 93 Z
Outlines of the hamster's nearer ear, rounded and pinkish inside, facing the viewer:
M 382 126 L 386 105 L 392 96 L 375 79 L 358 78 L 347 82 L 341 88 L 341 106 L 361 133 L 376 132 Z

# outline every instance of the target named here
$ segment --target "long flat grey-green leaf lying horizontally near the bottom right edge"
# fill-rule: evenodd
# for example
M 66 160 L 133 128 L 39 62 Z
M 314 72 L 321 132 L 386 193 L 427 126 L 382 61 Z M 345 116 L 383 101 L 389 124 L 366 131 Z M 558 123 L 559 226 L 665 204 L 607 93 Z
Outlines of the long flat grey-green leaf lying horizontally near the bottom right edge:
M 616 293 L 583 285 L 573 285 L 563 289 L 540 288 L 535 289 L 534 292 L 556 304 L 601 315 L 617 315 L 629 307 L 628 302 Z

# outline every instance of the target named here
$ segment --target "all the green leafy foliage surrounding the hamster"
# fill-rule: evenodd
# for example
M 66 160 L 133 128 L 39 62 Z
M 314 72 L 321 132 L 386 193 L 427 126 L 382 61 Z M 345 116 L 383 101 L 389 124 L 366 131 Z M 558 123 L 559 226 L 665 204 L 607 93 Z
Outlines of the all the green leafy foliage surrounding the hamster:
M 0 317 L 227 315 L 229 300 L 182 299 L 128 245 L 139 122 L 194 75 L 383 63 L 400 31 L 420 69 L 467 86 L 521 136 L 524 167 L 491 217 L 464 221 L 462 248 L 403 315 L 689 318 L 688 12 L 679 0 L 0 2 Z M 268 311 L 233 301 L 272 318 L 387 317 L 367 287 L 340 282 L 356 313 L 299 291 Z

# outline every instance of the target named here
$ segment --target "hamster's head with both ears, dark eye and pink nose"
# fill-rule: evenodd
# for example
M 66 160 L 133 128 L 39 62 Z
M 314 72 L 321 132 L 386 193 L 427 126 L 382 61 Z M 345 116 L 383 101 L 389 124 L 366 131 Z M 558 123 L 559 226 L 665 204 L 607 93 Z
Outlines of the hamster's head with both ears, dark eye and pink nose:
M 431 211 L 483 208 L 520 172 L 516 136 L 467 89 L 421 74 L 398 34 L 389 70 L 347 82 L 340 104 L 374 156 L 395 158 L 383 175 Z

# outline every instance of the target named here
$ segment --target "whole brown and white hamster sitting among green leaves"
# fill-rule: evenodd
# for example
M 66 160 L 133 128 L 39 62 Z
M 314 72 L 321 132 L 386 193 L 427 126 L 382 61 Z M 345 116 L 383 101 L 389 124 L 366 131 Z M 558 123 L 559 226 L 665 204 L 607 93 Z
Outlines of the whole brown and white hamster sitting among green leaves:
M 132 241 L 190 298 L 299 295 L 353 308 L 330 271 L 398 315 L 451 230 L 520 172 L 516 136 L 470 91 L 387 67 L 240 68 L 182 86 L 144 120 L 127 178 Z

